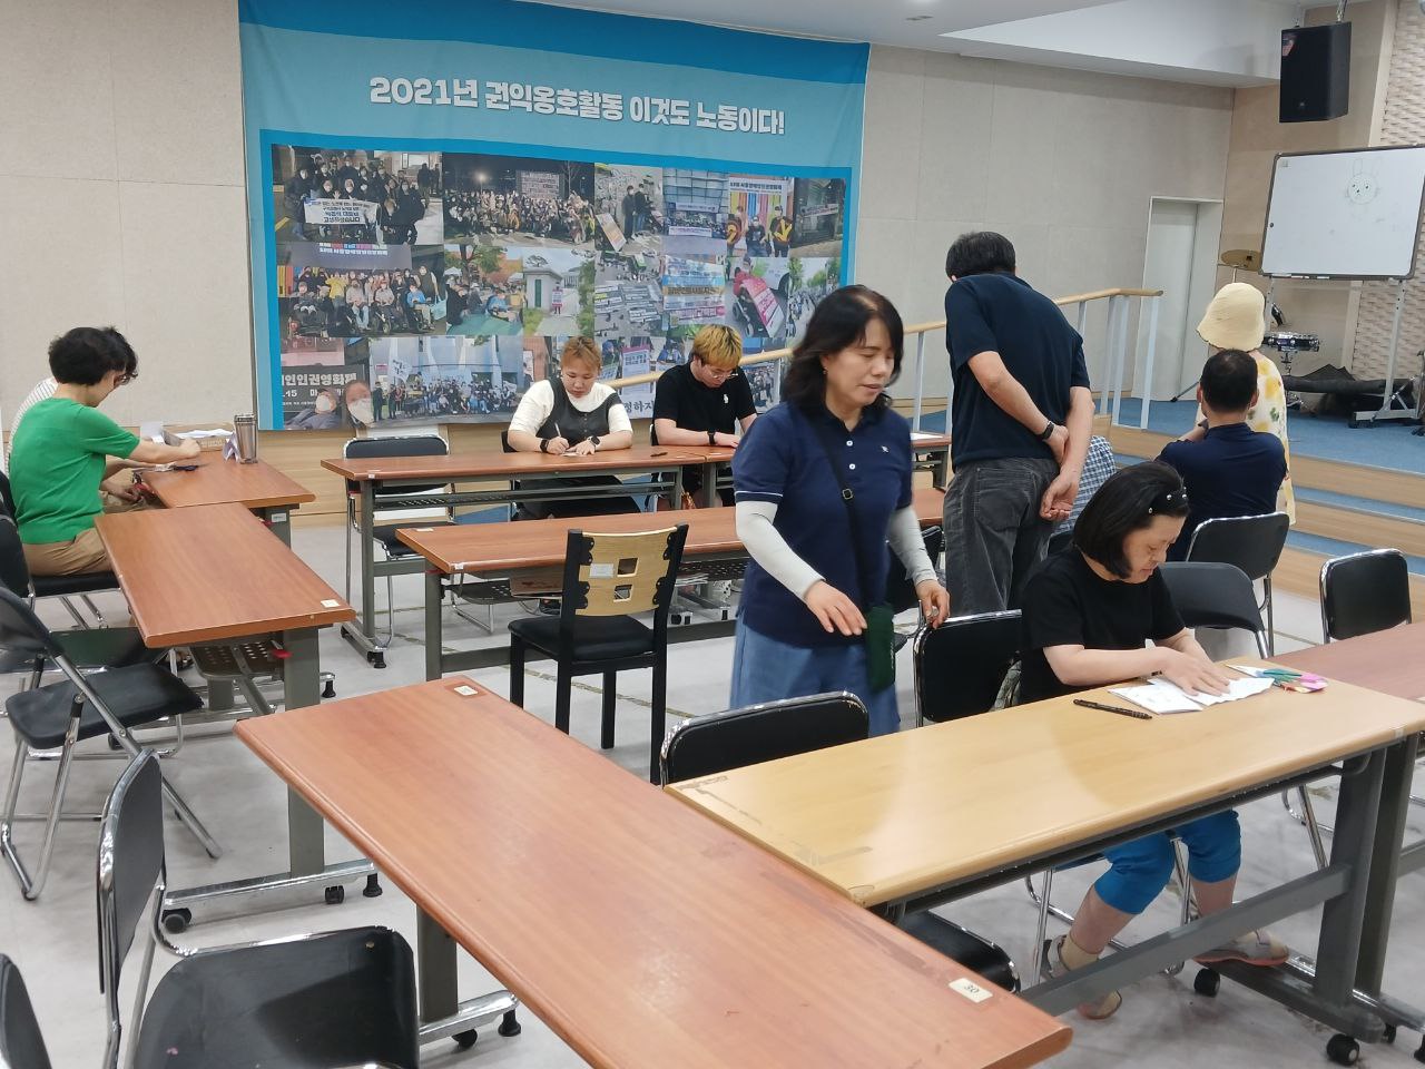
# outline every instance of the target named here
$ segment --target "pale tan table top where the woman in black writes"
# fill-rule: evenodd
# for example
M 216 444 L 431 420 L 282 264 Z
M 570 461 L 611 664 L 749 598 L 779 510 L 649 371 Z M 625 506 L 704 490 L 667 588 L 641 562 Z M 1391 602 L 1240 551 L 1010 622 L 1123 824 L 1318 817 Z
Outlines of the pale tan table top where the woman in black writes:
M 1084 697 L 1123 703 L 1107 690 Z M 1072 697 L 788 757 L 668 790 L 862 905 L 902 901 L 1270 784 L 1425 728 L 1334 681 L 1133 720 Z M 1006 784 L 1033 784 L 1005 804 Z

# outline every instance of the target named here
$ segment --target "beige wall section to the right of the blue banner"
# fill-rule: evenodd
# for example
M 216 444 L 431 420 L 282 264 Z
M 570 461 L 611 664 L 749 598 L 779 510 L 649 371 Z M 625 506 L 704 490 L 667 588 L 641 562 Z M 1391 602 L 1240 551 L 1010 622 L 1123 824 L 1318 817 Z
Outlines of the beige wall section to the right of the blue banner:
M 950 242 L 998 229 L 1042 292 L 1137 286 L 1149 198 L 1223 195 L 1231 101 L 1226 88 L 872 48 L 856 281 L 906 322 L 942 319 Z M 1102 305 L 1087 334 L 1097 372 Z M 926 358 L 926 392 L 943 395 L 943 335 Z

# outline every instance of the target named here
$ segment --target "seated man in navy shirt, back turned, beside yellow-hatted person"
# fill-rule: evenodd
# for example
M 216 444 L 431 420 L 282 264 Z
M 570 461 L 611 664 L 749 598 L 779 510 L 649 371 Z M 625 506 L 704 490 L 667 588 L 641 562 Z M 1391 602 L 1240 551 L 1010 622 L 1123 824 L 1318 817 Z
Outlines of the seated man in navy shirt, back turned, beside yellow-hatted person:
M 1281 439 L 1253 430 L 1247 409 L 1257 403 L 1257 361 L 1241 349 L 1207 358 L 1197 401 L 1207 416 L 1159 456 L 1187 486 L 1188 513 L 1168 560 L 1187 557 L 1203 520 L 1260 516 L 1277 510 L 1277 490 L 1287 477 Z

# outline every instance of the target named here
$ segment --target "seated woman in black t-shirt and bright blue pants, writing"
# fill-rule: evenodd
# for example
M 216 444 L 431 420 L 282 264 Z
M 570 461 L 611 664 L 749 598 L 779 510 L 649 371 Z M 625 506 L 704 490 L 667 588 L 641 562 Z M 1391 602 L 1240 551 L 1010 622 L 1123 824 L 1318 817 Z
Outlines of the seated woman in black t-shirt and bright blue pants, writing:
M 1187 517 L 1177 472 L 1151 462 L 1109 477 L 1074 526 L 1073 549 L 1050 557 L 1029 580 L 1023 604 L 1020 698 L 1037 701 L 1140 676 L 1161 674 L 1184 690 L 1221 693 L 1227 677 L 1183 626 L 1157 567 Z M 1144 643 L 1153 640 L 1154 646 Z M 1109 716 L 1074 710 L 1083 717 Z M 1131 721 L 1139 723 L 1139 721 Z M 1151 723 L 1141 724 L 1147 731 Z M 1143 748 L 1153 743 L 1147 735 Z M 1193 897 L 1203 915 L 1233 904 L 1241 867 L 1237 812 L 1227 810 L 1173 830 L 1187 847 Z M 1084 895 L 1067 935 L 1045 946 L 1043 971 L 1062 976 L 1097 961 L 1103 948 L 1147 909 L 1173 875 L 1168 832 L 1103 851 L 1112 868 Z M 1280 965 L 1287 948 L 1267 931 L 1230 939 L 1197 958 Z M 1102 1019 L 1123 1003 L 1119 992 L 1079 1012 Z

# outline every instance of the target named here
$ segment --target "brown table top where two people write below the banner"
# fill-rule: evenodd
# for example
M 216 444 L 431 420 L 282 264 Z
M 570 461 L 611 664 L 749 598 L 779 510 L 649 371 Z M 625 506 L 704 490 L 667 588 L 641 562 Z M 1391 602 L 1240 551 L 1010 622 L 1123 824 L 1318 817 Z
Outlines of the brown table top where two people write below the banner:
M 469 449 L 449 456 L 369 456 L 333 458 L 322 468 L 343 479 L 477 479 L 522 475 L 580 475 L 583 472 L 657 472 L 683 465 L 700 465 L 705 449 L 636 445 L 608 449 L 591 456 L 549 456 L 547 453 L 506 453 L 500 449 Z

